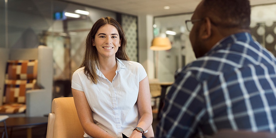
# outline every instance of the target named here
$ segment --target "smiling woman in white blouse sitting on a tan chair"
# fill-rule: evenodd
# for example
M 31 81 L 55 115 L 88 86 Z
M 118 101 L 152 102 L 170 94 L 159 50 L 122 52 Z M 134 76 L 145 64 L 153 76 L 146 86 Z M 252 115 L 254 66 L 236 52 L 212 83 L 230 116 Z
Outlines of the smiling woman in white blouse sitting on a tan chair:
M 126 45 L 110 17 L 97 20 L 87 36 L 83 63 L 72 76 L 84 137 L 154 137 L 147 73 L 129 61 Z

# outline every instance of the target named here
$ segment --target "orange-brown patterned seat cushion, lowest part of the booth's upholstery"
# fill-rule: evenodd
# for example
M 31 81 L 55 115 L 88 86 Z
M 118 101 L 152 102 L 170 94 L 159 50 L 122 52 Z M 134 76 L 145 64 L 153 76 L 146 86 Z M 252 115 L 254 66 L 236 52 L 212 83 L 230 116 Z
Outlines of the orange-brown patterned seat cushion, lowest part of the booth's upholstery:
M 0 106 L 0 114 L 16 114 L 26 111 L 25 104 L 4 104 Z

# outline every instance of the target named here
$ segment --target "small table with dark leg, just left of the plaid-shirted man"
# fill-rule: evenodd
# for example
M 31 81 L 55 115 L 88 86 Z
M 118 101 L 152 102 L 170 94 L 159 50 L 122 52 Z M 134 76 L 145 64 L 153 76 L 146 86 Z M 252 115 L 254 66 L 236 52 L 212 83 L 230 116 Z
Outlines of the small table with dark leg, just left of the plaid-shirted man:
M 170 85 L 172 85 L 173 82 L 156 82 L 156 83 L 151 83 L 151 84 L 157 84 L 157 85 L 161 86 L 161 95 L 160 95 L 160 102 L 159 102 L 158 114 L 157 114 L 157 119 L 159 120 L 161 118 L 161 110 L 164 106 L 167 88 Z

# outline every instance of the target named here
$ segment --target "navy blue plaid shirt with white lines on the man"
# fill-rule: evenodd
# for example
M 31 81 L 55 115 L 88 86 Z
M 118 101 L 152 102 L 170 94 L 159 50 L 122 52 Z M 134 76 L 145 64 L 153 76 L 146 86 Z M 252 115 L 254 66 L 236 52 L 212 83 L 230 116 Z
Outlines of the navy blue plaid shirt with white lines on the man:
M 156 137 L 220 129 L 275 132 L 276 59 L 249 33 L 233 34 L 177 72 Z

